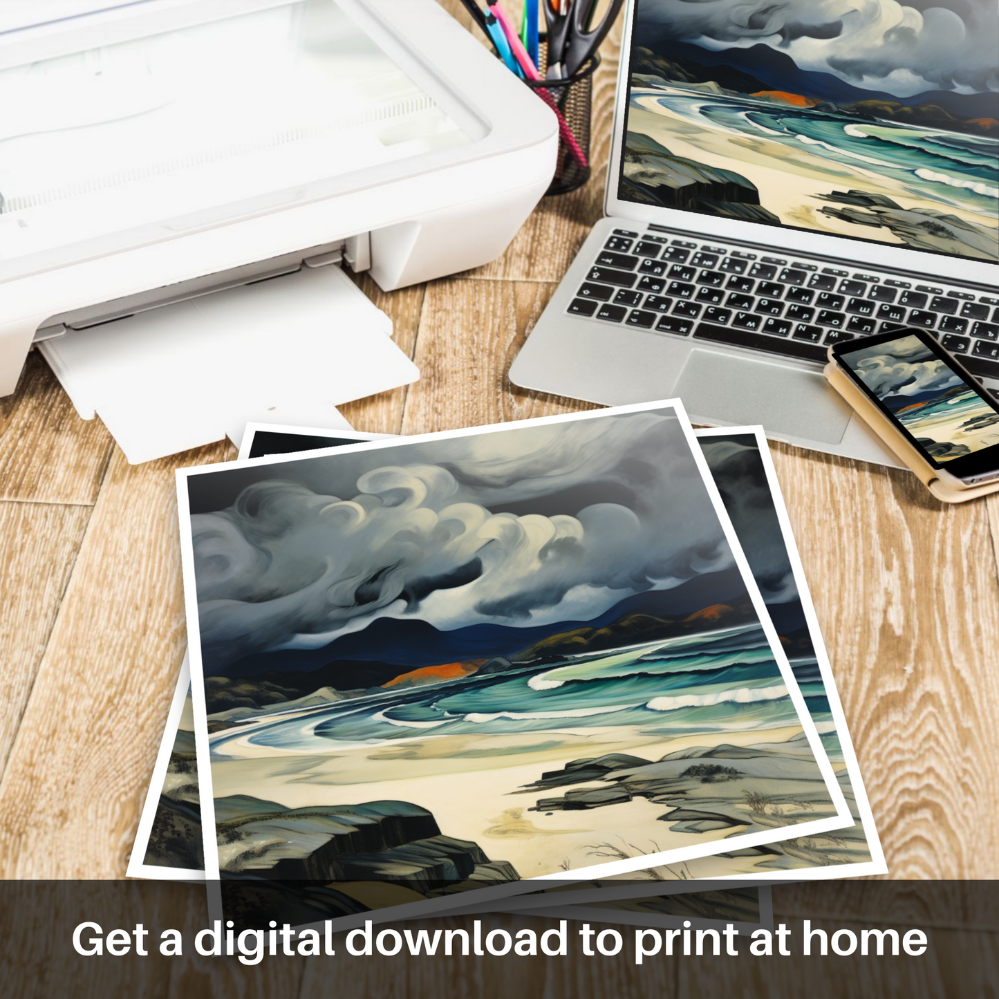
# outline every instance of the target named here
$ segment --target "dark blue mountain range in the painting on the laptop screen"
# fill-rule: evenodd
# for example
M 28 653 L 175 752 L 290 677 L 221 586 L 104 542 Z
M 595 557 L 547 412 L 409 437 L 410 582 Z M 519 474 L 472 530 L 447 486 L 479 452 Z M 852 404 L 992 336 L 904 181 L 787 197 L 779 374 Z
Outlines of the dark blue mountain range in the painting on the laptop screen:
M 716 83 L 739 94 L 780 91 L 822 102 L 819 111 L 899 121 L 908 125 L 990 134 L 999 128 L 999 95 L 932 90 L 896 97 L 864 90 L 831 73 L 799 69 L 794 60 L 768 45 L 712 52 L 686 42 L 662 41 L 656 49 L 636 47 L 631 71 L 678 83 Z

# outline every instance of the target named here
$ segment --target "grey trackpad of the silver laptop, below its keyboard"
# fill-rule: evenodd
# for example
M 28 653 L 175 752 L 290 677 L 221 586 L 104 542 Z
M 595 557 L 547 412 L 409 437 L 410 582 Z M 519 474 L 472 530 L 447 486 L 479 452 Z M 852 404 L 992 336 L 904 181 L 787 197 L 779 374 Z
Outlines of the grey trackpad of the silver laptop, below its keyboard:
M 839 444 L 852 416 L 817 373 L 720 351 L 694 350 L 674 395 L 694 423 L 702 417 L 726 424 L 762 424 L 772 434 L 822 444 Z

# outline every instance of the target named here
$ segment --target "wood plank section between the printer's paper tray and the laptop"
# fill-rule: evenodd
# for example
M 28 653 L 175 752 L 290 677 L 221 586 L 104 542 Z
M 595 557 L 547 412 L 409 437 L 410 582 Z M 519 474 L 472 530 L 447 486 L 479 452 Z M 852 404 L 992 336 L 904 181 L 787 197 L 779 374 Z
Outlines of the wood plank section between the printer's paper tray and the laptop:
M 427 287 L 404 434 L 596 409 L 514 389 L 506 372 L 553 286 L 534 282 L 437 281 Z

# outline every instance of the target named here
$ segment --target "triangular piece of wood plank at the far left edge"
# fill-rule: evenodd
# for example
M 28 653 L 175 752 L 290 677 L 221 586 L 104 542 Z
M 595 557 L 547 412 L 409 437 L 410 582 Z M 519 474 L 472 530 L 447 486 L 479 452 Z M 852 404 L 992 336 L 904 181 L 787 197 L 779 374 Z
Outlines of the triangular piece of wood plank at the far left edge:
M 0 502 L 0 774 L 55 622 L 89 506 Z

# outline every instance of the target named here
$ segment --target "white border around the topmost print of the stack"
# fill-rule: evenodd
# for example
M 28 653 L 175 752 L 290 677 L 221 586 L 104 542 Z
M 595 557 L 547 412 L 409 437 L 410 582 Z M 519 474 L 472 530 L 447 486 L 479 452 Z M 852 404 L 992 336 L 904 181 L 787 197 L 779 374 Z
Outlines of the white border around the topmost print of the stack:
M 731 522 L 728 519 L 728 515 L 725 512 L 724 505 L 721 502 L 721 498 L 718 494 L 714 482 L 710 476 L 707 468 L 706 461 L 700 452 L 700 448 L 696 446 L 696 440 L 693 437 L 693 431 L 690 427 L 690 422 L 687 419 L 686 412 L 683 409 L 683 404 L 679 400 L 665 400 L 662 402 L 655 403 L 641 403 L 634 406 L 623 406 L 615 407 L 612 410 L 595 410 L 585 413 L 575 413 L 567 414 L 564 416 L 556 417 L 541 417 L 535 420 L 525 420 L 518 421 L 510 424 L 500 424 L 494 425 L 492 427 L 477 427 L 477 428 L 466 428 L 456 431 L 444 431 L 436 434 L 425 434 L 415 437 L 408 437 L 405 439 L 405 443 L 414 442 L 429 442 L 429 441 L 441 441 L 441 440 L 451 440 L 455 438 L 462 437 L 472 437 L 480 436 L 483 434 L 495 434 L 503 431 L 512 430 L 514 428 L 522 427 L 539 427 L 547 426 L 557 423 L 568 423 L 578 420 L 593 420 L 606 418 L 611 414 L 623 414 L 623 413 L 640 413 L 654 410 L 668 410 L 672 409 L 674 415 L 676 416 L 680 428 L 687 438 L 687 443 L 690 448 L 690 454 L 693 456 L 695 465 L 701 474 L 701 479 L 704 483 L 704 488 L 710 497 L 715 514 L 718 517 L 718 521 L 722 526 L 722 530 L 725 534 L 725 538 L 731 548 L 733 557 L 736 564 L 742 573 L 743 580 L 745 581 L 746 591 L 748 592 L 750 599 L 752 600 L 753 607 L 756 611 L 757 617 L 759 618 L 760 624 L 763 627 L 763 631 L 766 634 L 767 640 L 770 643 L 771 649 L 774 653 L 774 659 L 776 660 L 778 667 L 781 671 L 781 675 L 788 688 L 788 694 L 791 698 L 791 702 L 795 707 L 798 714 L 799 723 L 802 726 L 808 743 L 811 746 L 812 754 L 816 760 L 819 767 L 819 771 L 826 784 L 826 789 L 829 792 L 830 800 L 836 808 L 836 814 L 830 816 L 826 819 L 815 819 L 811 822 L 802 822 L 797 825 L 789 825 L 784 827 L 781 832 L 783 835 L 775 835 L 772 830 L 764 830 L 757 833 L 749 833 L 739 837 L 740 847 L 749 847 L 757 844 L 765 844 L 768 842 L 774 842 L 776 840 L 789 838 L 792 836 L 807 835 L 810 833 L 827 832 L 833 829 L 840 829 L 847 825 L 853 824 L 853 817 L 849 812 L 849 808 L 846 804 L 846 799 L 844 798 L 839 784 L 836 780 L 835 774 L 832 770 L 832 766 L 829 763 L 828 757 L 825 755 L 822 749 L 821 741 L 818 736 L 818 732 L 815 729 L 815 725 L 812 723 L 811 718 L 808 714 L 807 707 L 804 702 L 804 697 L 801 694 L 797 684 L 794 682 L 793 673 L 791 671 L 790 665 L 788 664 L 787 657 L 784 655 L 781 649 L 779 639 L 777 637 L 776 631 L 770 621 L 769 615 L 766 613 L 766 607 L 763 603 L 762 596 L 759 593 L 756 583 L 753 580 L 752 573 L 749 571 L 748 564 L 746 562 L 745 556 L 742 553 L 742 549 L 738 543 L 735 536 L 735 532 L 732 528 Z M 310 461 L 312 459 L 320 459 L 326 457 L 333 457 L 338 454 L 344 454 L 345 452 L 355 453 L 362 451 L 378 451 L 385 448 L 396 448 L 400 446 L 400 442 L 396 438 L 389 438 L 385 441 L 375 441 L 364 444 L 348 445 L 346 448 L 328 448 L 321 451 L 309 452 L 308 455 L 303 456 L 302 454 L 292 456 L 281 455 L 269 458 L 257 459 L 255 465 L 280 465 L 287 462 L 301 462 Z M 201 468 L 191 468 L 191 469 L 179 469 L 176 471 L 177 486 L 178 486 L 178 516 L 180 522 L 180 535 L 181 535 L 181 559 L 184 569 L 184 595 L 185 595 L 185 607 L 187 611 L 187 623 L 188 623 L 188 640 L 190 642 L 190 656 L 191 656 L 191 688 L 194 700 L 194 712 L 195 712 L 195 741 L 197 744 L 199 758 L 210 759 L 210 745 L 208 739 L 208 727 L 206 722 L 206 705 L 205 705 L 205 684 L 204 684 L 204 674 L 202 671 L 202 659 L 201 659 L 201 641 L 200 633 L 198 627 L 198 601 L 197 592 L 195 589 L 195 574 L 194 574 L 194 550 L 190 530 L 190 506 L 188 500 L 188 488 L 187 481 L 196 476 L 206 476 L 213 475 L 216 473 L 230 471 L 234 468 L 245 468 L 245 465 L 239 463 L 228 462 L 221 465 L 205 466 Z M 209 767 L 208 772 L 199 772 L 199 784 L 201 786 L 201 799 L 204 803 L 206 800 L 212 801 L 212 774 L 211 768 Z M 210 911 L 212 912 L 213 918 L 221 918 L 222 910 L 222 896 L 221 889 L 219 885 L 219 858 L 218 849 L 216 845 L 216 832 L 215 832 L 215 814 L 214 806 L 210 806 L 207 809 L 203 808 L 202 813 L 202 825 L 203 825 L 203 836 L 205 840 L 205 874 L 208 880 L 209 888 L 209 905 Z M 544 881 L 556 881 L 564 883 L 565 881 L 575 881 L 575 880 L 591 880 L 594 877 L 610 877 L 614 874 L 626 874 L 631 871 L 640 870 L 643 867 L 655 866 L 662 863 L 677 863 L 682 860 L 689 860 L 695 857 L 710 856 L 718 852 L 723 852 L 725 849 L 730 849 L 731 844 L 723 840 L 721 842 L 712 841 L 708 843 L 695 844 L 686 847 L 680 847 L 675 850 L 665 850 L 658 853 L 646 854 L 638 857 L 630 857 L 624 860 L 610 861 L 605 864 L 594 864 L 589 867 L 582 867 L 571 872 L 563 873 L 553 873 L 540 875 L 535 878 L 524 878 L 520 881 L 510 882 L 508 884 L 497 885 L 490 888 L 483 888 L 476 891 L 479 896 L 477 901 L 485 901 L 487 898 L 501 898 L 510 895 L 518 895 L 524 892 L 530 892 L 536 890 L 536 887 L 543 883 Z M 373 922 L 382 922 L 389 919 L 405 919 L 409 918 L 411 915 L 418 915 L 430 912 L 440 912 L 447 909 L 453 909 L 458 904 L 459 900 L 455 898 L 454 895 L 445 898 L 428 899 L 421 902 L 413 902 L 407 905 L 401 906 L 391 906 L 385 909 L 376 910 L 374 912 L 360 913 L 355 916 L 346 916 L 342 919 L 334 920 L 334 924 L 338 928 L 348 928 L 353 925 L 361 925 L 365 919 L 371 919 Z

